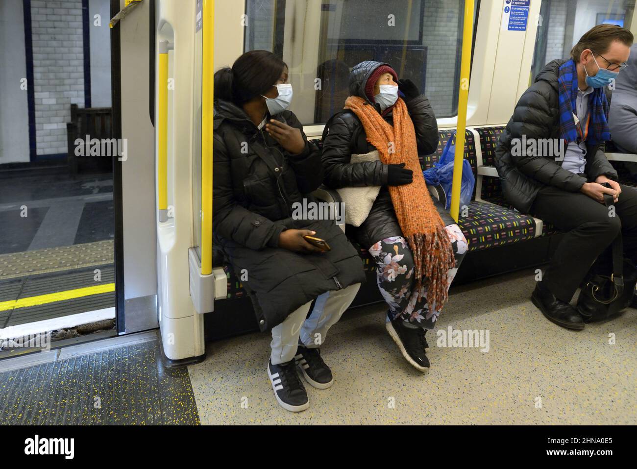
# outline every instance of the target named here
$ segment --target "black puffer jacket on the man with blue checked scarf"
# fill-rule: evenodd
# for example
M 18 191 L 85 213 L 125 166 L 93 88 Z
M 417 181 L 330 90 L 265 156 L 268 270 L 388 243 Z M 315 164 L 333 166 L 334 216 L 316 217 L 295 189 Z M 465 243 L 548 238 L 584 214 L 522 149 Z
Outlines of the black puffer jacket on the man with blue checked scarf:
M 617 180 L 617 172 L 599 144 L 587 145 L 586 178 L 564 170 L 562 161 L 555 161 L 554 157 L 514 156 L 511 153 L 512 140 L 521 139 L 523 135 L 526 135 L 527 140 L 560 138 L 557 78 L 564 62 L 552 61 L 538 74 L 533 85 L 520 97 L 497 145 L 496 168 L 502 191 L 506 199 L 522 213 L 531 212 L 535 196 L 545 185 L 578 192 L 585 182 L 594 181 L 600 175 Z M 610 101 L 608 89 L 606 95 Z

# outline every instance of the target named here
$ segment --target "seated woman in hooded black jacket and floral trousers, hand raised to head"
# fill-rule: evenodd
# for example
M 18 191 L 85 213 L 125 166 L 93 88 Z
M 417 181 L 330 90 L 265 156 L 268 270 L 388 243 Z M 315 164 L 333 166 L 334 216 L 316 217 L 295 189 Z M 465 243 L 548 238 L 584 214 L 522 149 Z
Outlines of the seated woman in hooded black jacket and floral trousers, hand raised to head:
M 438 125 L 429 99 L 410 80 L 398 80 L 388 64 L 367 61 L 352 69 L 350 95 L 362 97 L 392 125 L 392 107 L 399 90 L 413 122 L 419 154 L 433 153 L 438 145 Z M 365 129 L 354 112 L 345 110 L 335 115 L 323 141 L 325 184 L 334 189 L 382 186 L 368 217 L 359 227 L 347 225 L 347 233 L 367 248 L 378 264 L 378 288 L 389 305 L 387 331 L 405 359 L 425 371 L 429 368 L 425 333 L 433 329 L 440 308 L 429 311 L 426 291 L 414 289 L 412 249 L 403 238 L 388 190 L 389 185 L 410 184 L 413 174 L 400 165 L 383 164 L 380 160 L 350 162 L 352 154 L 367 154 L 375 149 L 366 140 Z M 455 268 L 448 271 L 447 277 L 450 285 L 468 245 L 444 206 L 438 201 L 434 205 L 454 248 Z

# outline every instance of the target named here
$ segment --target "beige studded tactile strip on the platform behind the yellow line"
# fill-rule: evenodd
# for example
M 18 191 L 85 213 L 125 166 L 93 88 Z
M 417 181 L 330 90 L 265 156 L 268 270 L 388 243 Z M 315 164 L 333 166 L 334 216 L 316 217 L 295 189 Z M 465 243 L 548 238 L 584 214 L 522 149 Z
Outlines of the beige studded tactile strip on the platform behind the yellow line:
M 113 241 L 0 254 L 0 280 L 113 263 Z

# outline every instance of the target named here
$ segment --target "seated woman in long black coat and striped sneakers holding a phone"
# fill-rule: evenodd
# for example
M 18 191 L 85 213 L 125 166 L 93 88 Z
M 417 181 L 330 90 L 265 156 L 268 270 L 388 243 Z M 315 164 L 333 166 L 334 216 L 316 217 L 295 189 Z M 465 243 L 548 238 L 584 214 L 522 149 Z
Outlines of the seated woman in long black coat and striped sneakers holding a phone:
M 262 330 L 272 329 L 268 375 L 276 400 L 308 407 L 297 376 L 325 389 L 331 370 L 318 347 L 364 280 L 361 258 L 333 220 L 294 215 L 316 203 L 318 148 L 285 110 L 287 66 L 266 50 L 241 55 L 215 73 L 213 230 L 215 243 L 250 292 Z M 326 240 L 331 250 L 303 236 Z M 315 306 L 310 312 L 312 301 Z

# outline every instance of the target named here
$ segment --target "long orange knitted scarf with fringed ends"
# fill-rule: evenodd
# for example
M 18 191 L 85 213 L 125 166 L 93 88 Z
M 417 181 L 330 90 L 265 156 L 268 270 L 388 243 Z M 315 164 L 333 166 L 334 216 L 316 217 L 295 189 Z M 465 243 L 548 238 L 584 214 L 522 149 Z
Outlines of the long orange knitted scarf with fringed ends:
M 359 117 L 367 140 L 378 150 L 380 161 L 384 164 L 404 162 L 404 167 L 413 171 L 411 184 L 390 185 L 389 194 L 403 238 L 412 250 L 418 299 L 422 298 L 424 285 L 429 310 L 440 310 L 447 301 L 447 273 L 455 266 L 454 249 L 422 175 L 416 133 L 407 106 L 403 99 L 396 101 L 393 127 L 362 97 L 348 97 L 345 109 Z

